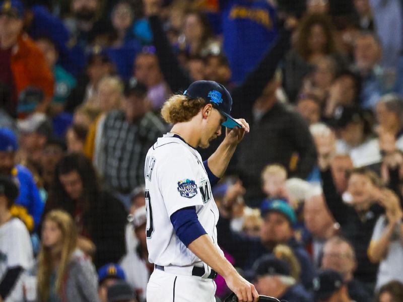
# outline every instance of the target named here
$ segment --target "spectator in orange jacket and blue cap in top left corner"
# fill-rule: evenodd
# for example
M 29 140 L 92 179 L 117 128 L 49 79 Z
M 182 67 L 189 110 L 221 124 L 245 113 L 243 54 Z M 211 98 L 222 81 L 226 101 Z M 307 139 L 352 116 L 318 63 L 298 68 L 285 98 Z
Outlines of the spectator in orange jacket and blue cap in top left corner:
M 0 15 L 0 82 L 11 89 L 7 111 L 17 116 L 19 94 L 34 85 L 45 94 L 36 110 L 45 112 L 53 96 L 54 80 L 42 52 L 23 32 L 24 5 L 20 0 L 2 1 Z

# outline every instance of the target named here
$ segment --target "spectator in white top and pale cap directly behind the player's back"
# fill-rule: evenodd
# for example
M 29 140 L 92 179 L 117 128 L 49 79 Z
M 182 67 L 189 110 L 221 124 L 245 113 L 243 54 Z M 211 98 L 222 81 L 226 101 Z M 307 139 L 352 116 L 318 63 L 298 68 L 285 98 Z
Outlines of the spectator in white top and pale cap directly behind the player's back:
M 123 257 L 122 266 L 126 281 L 134 288 L 142 300 L 146 300 L 147 283 L 154 265 L 148 261 L 148 251 L 146 243 L 146 206 L 138 208 L 133 214 L 132 224 L 138 245 L 134 250 L 128 251 Z

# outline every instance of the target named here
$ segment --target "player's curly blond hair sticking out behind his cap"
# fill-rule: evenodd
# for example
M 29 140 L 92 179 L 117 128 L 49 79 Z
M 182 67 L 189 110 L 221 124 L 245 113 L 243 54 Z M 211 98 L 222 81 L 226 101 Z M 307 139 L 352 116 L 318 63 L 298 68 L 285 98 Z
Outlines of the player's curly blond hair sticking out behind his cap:
M 173 95 L 162 106 L 161 116 L 169 124 L 187 122 L 206 105 L 202 98 L 190 99 L 185 95 Z

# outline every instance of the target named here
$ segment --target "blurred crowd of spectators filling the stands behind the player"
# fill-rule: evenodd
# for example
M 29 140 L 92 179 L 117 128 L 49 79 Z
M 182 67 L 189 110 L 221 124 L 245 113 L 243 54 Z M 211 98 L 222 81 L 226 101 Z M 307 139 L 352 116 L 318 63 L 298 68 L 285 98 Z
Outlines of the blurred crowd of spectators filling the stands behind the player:
M 146 301 L 145 156 L 196 80 L 250 124 L 212 192 L 241 274 L 403 301 L 402 0 L 6 0 L 0 302 Z

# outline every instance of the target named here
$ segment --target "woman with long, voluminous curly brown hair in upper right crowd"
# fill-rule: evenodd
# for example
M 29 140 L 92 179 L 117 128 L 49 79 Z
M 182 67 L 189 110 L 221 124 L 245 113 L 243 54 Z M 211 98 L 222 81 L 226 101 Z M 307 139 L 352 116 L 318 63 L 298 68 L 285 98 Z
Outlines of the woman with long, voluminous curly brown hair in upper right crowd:
M 320 59 L 331 56 L 338 65 L 343 62 L 337 53 L 333 25 L 326 15 L 305 15 L 297 31 L 295 47 L 287 54 L 284 72 L 284 85 L 290 100 L 296 99 L 303 79 Z

